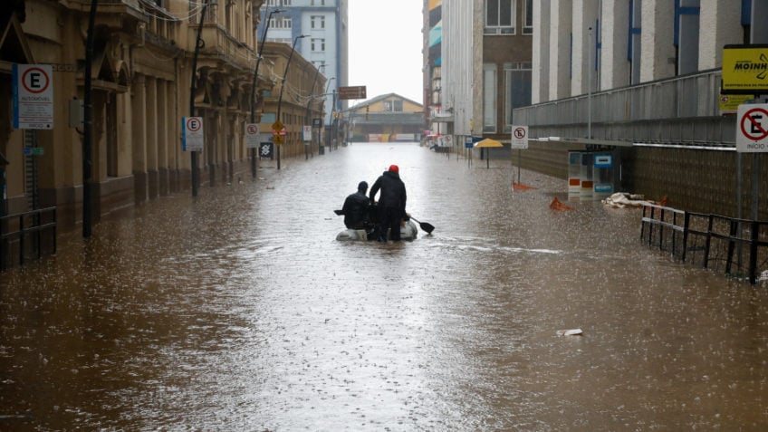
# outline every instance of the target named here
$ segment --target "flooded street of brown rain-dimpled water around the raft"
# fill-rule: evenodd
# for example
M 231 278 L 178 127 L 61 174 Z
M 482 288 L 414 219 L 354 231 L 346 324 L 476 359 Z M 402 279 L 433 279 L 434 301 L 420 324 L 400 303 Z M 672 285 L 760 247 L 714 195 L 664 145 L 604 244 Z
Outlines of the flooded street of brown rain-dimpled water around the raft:
M 336 241 L 389 164 L 435 232 Z M 640 210 L 417 144 L 271 167 L 0 274 L 0 430 L 768 428 L 768 290 L 648 249 Z

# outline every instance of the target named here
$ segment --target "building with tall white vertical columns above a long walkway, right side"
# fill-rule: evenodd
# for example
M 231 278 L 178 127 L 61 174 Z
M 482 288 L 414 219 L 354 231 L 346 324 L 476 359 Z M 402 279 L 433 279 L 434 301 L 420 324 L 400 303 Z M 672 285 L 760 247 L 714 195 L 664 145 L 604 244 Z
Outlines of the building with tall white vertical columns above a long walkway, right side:
M 726 45 L 768 42 L 767 16 L 759 0 L 536 0 L 533 105 L 514 112 L 533 139 L 523 167 L 565 178 L 568 151 L 608 150 L 623 190 L 768 217 L 768 160 L 736 151 L 736 98 L 721 88 Z M 768 86 L 755 92 L 738 100 Z

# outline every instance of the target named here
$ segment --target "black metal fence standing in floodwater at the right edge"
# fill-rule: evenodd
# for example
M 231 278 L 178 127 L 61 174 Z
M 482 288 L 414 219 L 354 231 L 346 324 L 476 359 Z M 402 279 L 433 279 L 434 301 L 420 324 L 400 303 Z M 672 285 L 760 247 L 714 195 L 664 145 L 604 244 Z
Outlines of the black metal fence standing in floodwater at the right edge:
M 768 276 L 768 222 L 647 204 L 640 239 L 683 262 L 753 284 Z

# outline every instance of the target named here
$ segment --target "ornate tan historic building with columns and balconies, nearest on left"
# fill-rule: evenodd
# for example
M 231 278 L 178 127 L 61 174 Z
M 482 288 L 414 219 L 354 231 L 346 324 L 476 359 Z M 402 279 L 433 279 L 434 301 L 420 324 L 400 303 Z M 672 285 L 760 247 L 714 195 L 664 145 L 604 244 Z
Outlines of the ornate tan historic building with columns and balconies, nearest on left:
M 256 122 L 261 119 L 264 92 L 269 95 L 280 88 L 275 75 L 283 74 L 281 66 L 288 53 L 283 48 L 269 53 L 269 61 L 254 80 L 255 28 L 263 2 L 206 3 L 98 3 L 91 57 L 91 161 L 84 160 L 82 123 L 76 120 L 78 101 L 84 97 L 91 2 L 14 0 L 0 5 L 2 215 L 56 206 L 59 226 L 79 223 L 86 162 L 93 186 L 91 218 L 96 220 L 190 187 L 192 157 L 182 148 L 183 117 L 203 118 L 205 144 L 197 151 L 201 184 L 250 176 L 252 151 L 245 147 L 245 123 L 252 116 Z M 201 42 L 197 44 L 198 30 Z M 196 44 L 199 54 L 194 68 Z M 51 129 L 14 128 L 14 64 L 52 68 Z M 193 69 L 196 85 L 190 94 Z M 312 63 L 294 58 L 287 86 L 308 97 L 303 82 L 293 80 L 305 80 L 315 72 Z M 295 99 L 295 95 L 286 97 L 286 112 L 299 116 L 293 107 Z M 319 107 L 309 108 L 314 114 L 307 114 L 304 104 L 302 117 L 319 115 Z

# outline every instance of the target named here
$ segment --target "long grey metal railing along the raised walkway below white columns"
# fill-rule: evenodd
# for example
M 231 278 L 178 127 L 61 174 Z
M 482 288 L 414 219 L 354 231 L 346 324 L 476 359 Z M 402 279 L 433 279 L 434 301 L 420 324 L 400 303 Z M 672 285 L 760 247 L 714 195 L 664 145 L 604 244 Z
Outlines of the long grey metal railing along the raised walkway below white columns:
M 735 121 L 720 115 L 719 69 L 537 103 L 514 110 L 532 138 L 593 139 L 733 147 Z M 588 107 L 591 105 L 591 118 Z

